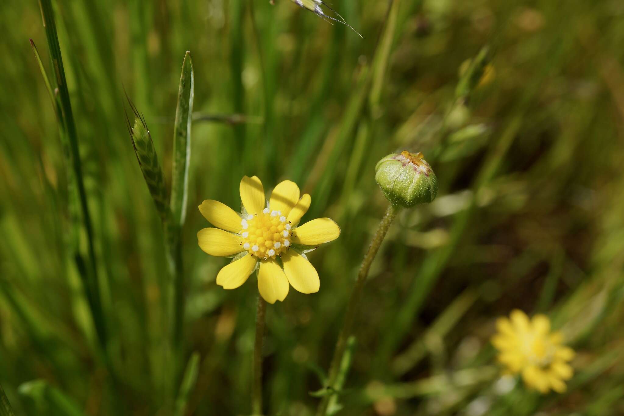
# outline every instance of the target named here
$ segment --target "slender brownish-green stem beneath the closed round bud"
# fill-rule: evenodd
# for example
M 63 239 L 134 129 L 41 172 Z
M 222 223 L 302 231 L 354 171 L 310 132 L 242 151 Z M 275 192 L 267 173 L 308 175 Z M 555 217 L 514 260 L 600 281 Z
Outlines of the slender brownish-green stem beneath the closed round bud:
M 362 264 L 358 272 L 358 279 L 355 282 L 355 286 L 353 286 L 353 292 L 351 292 L 351 297 L 349 298 L 346 315 L 344 316 L 343 328 L 341 329 L 340 335 L 338 336 L 336 349 L 334 349 L 334 357 L 331 360 L 331 365 L 329 366 L 329 375 L 326 384 L 326 389 L 328 390 L 338 390 L 337 380 L 340 372 L 340 364 L 343 360 L 347 341 L 349 339 L 349 336 L 351 336 L 351 332 L 353 331 L 353 322 L 355 321 L 359 299 L 361 299 L 362 297 L 364 283 L 366 283 L 366 278 L 368 277 L 368 271 L 371 268 L 371 264 L 373 263 L 377 252 L 379 251 L 379 246 L 381 246 L 381 242 L 384 241 L 384 237 L 386 236 L 386 233 L 388 233 L 388 229 L 392 225 L 392 221 L 394 221 L 394 217 L 397 215 L 400 209 L 401 207 L 397 205 L 390 204 L 388 206 L 386 213 L 379 223 L 377 231 L 375 231 L 373 241 L 371 241 L 371 245 L 368 246 L 368 251 L 366 251 L 364 259 L 362 260 Z M 318 406 L 316 416 L 326 416 L 331 397 L 333 397 L 333 394 L 328 394 L 323 397 L 323 400 L 321 400 L 321 403 Z

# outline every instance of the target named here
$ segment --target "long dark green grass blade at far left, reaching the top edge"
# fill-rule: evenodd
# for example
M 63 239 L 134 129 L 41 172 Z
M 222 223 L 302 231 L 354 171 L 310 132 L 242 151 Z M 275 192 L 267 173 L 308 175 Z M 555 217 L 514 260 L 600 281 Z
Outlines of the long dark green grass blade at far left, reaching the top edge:
M 56 32 L 56 23 L 54 22 L 54 11 L 52 10 L 51 0 L 39 0 L 41 7 L 41 16 L 43 17 L 43 25 L 46 28 L 46 37 L 54 74 L 56 75 L 56 88 L 58 89 L 59 102 L 61 109 L 61 122 L 64 125 L 64 131 L 67 132 L 69 139 L 70 162 L 76 183 L 80 211 L 82 212 L 82 222 L 87 234 L 87 245 L 89 249 L 89 266 L 90 271 L 81 274 L 84 280 L 85 292 L 89 301 L 89 306 L 95 323 L 95 329 L 102 346 L 106 347 L 107 334 L 105 328 L 104 311 L 102 309 L 102 300 L 100 298 L 100 288 L 97 281 L 97 261 L 95 258 L 94 233 L 89 213 L 89 205 L 87 203 L 87 193 L 85 191 L 84 180 L 82 177 L 82 164 L 80 162 L 80 150 L 78 145 L 78 133 L 76 123 L 74 123 L 74 115 L 72 105 L 69 99 L 69 90 L 67 89 L 67 79 L 65 69 L 63 67 L 63 59 L 61 56 L 61 46 Z M 68 169 L 69 170 L 69 169 Z

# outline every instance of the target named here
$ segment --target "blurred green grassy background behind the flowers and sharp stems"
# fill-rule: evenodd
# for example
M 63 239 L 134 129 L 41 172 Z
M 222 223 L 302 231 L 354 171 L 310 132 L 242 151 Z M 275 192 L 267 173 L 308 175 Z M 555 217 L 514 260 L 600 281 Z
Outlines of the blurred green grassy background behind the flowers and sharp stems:
M 197 205 L 237 208 L 243 175 L 266 190 L 296 181 L 312 196 L 303 221 L 342 229 L 309 256 L 319 293 L 291 290 L 267 310 L 266 414 L 313 414 L 309 392 L 387 205 L 374 165 L 404 149 L 424 153 L 439 196 L 402 211 L 373 264 L 339 415 L 624 414 L 622 1 L 335 2 L 364 39 L 286 0 L 53 4 L 107 341 L 85 298 L 75 254 L 88 238 L 29 45 L 54 81 L 39 4 L 2 1 L 0 384 L 16 414 L 250 413 L 256 279 L 217 286 L 228 260 L 195 236 L 207 226 Z M 486 74 L 467 80 L 484 46 Z M 163 227 L 124 87 L 169 184 L 187 50 L 195 121 L 177 349 Z M 513 308 L 547 313 L 577 351 L 566 394 L 500 377 L 489 337 Z

